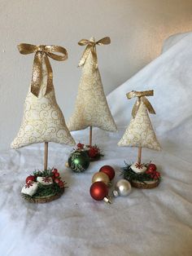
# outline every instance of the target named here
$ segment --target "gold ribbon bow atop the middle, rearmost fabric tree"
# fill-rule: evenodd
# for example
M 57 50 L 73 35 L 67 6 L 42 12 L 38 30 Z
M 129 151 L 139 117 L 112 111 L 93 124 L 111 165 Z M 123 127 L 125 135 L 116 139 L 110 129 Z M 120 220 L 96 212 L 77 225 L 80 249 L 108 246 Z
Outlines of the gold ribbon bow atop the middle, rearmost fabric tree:
M 93 55 L 93 62 L 94 62 L 94 68 L 98 68 L 98 57 L 96 53 L 96 45 L 98 46 L 103 46 L 103 45 L 108 45 L 111 43 L 110 38 L 102 38 L 95 42 L 94 38 L 91 38 L 90 40 L 87 39 L 81 39 L 78 44 L 80 46 L 86 46 L 85 51 L 83 52 L 83 55 L 81 56 L 81 60 L 79 61 L 78 67 L 81 67 L 85 64 L 85 61 L 87 60 L 87 57 L 89 55 L 89 52 L 92 53 Z

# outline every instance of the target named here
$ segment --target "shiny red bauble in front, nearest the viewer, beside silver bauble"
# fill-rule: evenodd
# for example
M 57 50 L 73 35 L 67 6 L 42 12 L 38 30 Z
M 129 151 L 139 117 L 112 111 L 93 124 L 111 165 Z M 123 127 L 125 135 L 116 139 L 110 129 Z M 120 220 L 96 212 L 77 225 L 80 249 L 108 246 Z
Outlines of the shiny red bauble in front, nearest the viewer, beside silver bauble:
M 102 181 L 93 183 L 90 187 L 90 196 L 96 201 L 102 201 L 108 195 L 108 188 Z

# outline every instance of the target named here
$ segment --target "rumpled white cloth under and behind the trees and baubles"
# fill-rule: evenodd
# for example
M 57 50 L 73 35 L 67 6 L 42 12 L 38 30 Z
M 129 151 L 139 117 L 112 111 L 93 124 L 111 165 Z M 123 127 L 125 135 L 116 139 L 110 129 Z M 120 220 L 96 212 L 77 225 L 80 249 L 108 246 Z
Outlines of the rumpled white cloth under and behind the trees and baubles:
M 42 167 L 42 145 L 0 152 L 0 256 L 192 255 L 191 44 L 189 33 L 108 96 L 119 133 L 94 129 L 94 142 L 105 157 L 85 173 L 66 169 L 71 149 L 50 143 L 49 166 L 62 171 L 69 187 L 59 200 L 37 205 L 20 197 L 26 176 Z M 111 205 L 94 201 L 89 196 L 94 172 L 111 165 L 118 180 L 124 161 L 136 160 L 136 148 L 116 143 L 135 102 L 125 94 L 147 89 L 155 90 L 149 99 L 157 115 L 151 121 L 164 149 L 143 149 L 143 161 L 155 162 L 162 183 L 153 190 L 133 188 Z M 88 142 L 88 130 L 73 135 Z

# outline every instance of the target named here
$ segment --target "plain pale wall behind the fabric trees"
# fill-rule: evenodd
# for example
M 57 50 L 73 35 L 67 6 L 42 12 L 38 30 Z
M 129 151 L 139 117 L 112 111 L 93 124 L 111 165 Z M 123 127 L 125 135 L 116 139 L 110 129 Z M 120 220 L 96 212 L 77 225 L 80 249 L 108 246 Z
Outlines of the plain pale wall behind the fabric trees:
M 81 76 L 81 38 L 111 37 L 110 46 L 98 46 L 108 94 L 159 55 L 164 38 L 191 28 L 191 0 L 0 0 L 0 148 L 8 148 L 19 130 L 31 80 L 33 55 L 20 55 L 18 43 L 67 48 L 68 60 L 51 64 L 68 120 Z

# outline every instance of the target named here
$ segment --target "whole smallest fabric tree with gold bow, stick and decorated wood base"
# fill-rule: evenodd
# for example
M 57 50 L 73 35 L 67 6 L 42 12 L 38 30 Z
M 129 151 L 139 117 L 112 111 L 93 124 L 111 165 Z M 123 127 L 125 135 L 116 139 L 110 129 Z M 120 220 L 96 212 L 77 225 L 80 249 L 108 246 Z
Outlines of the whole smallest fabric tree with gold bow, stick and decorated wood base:
M 124 179 L 135 188 L 156 188 L 160 182 L 160 174 L 155 164 L 142 164 L 142 148 L 160 150 L 160 144 L 151 125 L 149 113 L 155 114 L 154 108 L 146 96 L 152 96 L 153 90 L 135 91 L 127 94 L 128 99 L 137 97 L 133 106 L 132 120 L 120 139 L 118 146 L 138 148 L 137 161 L 124 167 Z

